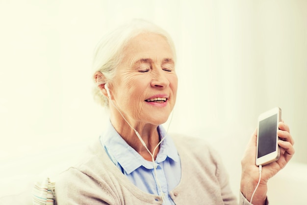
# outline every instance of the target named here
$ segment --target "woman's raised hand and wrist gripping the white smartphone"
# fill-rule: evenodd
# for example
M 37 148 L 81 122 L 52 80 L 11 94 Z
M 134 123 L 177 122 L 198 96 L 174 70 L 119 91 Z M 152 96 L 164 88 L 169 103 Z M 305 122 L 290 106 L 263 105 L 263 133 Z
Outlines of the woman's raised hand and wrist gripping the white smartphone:
M 295 150 L 293 148 L 294 140 L 290 134 L 288 125 L 283 121 L 279 122 L 278 141 L 281 147 L 280 158 L 262 167 L 261 180 L 253 198 L 254 205 L 264 205 L 266 202 L 267 181 L 276 175 L 292 158 Z M 252 194 L 256 188 L 259 180 L 259 168 L 255 164 L 256 160 L 256 140 L 257 130 L 247 146 L 243 159 L 241 161 L 242 175 L 241 175 L 241 192 L 245 198 L 250 201 Z

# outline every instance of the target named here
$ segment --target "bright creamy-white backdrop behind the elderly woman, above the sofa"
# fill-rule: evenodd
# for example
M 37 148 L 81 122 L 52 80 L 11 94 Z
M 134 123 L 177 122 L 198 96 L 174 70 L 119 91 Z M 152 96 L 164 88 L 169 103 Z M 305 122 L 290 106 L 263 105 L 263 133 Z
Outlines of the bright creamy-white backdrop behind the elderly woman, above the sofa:
M 173 37 L 169 132 L 214 144 L 234 190 L 256 118 L 275 106 L 296 142 L 293 162 L 307 163 L 306 11 L 306 0 L 0 0 L 1 176 L 39 174 L 33 163 L 61 163 L 67 147 L 98 138 L 108 114 L 91 93 L 93 50 L 131 18 Z

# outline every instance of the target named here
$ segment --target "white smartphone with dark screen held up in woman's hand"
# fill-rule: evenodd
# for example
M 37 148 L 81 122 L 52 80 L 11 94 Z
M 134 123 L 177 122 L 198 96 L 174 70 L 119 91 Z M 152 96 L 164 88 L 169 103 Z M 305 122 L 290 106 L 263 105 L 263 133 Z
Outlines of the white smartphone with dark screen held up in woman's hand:
M 277 131 L 281 121 L 281 109 L 273 108 L 258 117 L 256 165 L 266 165 L 280 157 Z

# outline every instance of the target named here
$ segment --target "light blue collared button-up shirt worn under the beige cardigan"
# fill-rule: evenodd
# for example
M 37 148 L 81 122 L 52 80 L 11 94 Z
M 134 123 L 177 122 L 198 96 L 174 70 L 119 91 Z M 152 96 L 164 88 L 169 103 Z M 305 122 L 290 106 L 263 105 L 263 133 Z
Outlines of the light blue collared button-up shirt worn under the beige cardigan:
M 161 138 L 166 134 L 162 126 L 158 126 L 157 131 Z M 135 137 L 137 138 L 137 136 Z M 181 165 L 177 149 L 170 136 L 163 140 L 156 156 L 154 162 L 156 175 L 154 174 L 153 162 L 145 160 L 129 146 L 117 133 L 111 122 L 100 136 L 100 141 L 112 162 L 136 187 L 144 192 L 159 196 L 162 196 L 162 190 L 163 205 L 175 205 L 168 193 L 179 184 Z

